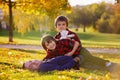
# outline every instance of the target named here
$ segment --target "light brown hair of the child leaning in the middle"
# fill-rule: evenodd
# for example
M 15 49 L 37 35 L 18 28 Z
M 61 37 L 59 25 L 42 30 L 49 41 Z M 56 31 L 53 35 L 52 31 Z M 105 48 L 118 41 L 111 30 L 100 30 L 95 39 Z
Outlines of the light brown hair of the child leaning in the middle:
M 53 38 L 51 35 L 44 35 L 42 38 L 41 38 L 41 44 L 42 44 L 42 47 L 47 51 L 47 47 L 45 46 L 45 42 L 48 42 L 52 40 L 52 41 L 55 41 L 55 38 Z

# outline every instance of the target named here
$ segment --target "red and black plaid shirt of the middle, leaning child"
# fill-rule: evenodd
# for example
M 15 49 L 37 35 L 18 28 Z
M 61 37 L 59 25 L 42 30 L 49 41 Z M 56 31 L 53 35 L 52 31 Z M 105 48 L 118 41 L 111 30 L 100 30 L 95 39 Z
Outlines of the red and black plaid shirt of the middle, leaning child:
M 67 54 L 68 52 L 72 51 L 74 44 L 75 42 L 70 39 L 62 39 L 57 41 L 55 50 L 47 51 L 47 56 L 44 58 L 44 60 Z M 72 56 L 77 56 L 80 53 L 80 49 L 81 48 L 78 47 Z

